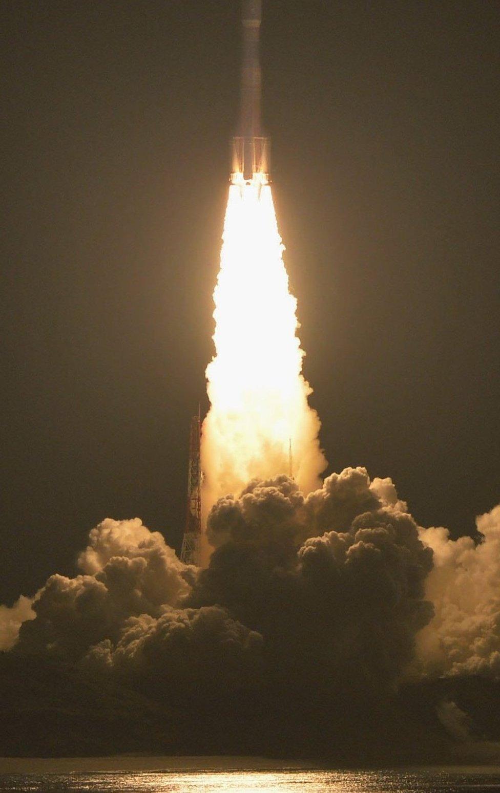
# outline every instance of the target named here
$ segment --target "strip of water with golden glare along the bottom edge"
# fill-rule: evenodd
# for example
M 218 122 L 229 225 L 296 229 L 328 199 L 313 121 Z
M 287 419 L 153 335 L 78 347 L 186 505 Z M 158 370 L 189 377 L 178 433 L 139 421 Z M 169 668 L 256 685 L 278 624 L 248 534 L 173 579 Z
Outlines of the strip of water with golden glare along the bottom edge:
M 125 791 L 125 793 L 492 793 L 500 769 L 429 768 L 387 771 L 102 772 L 0 775 L 2 791 Z

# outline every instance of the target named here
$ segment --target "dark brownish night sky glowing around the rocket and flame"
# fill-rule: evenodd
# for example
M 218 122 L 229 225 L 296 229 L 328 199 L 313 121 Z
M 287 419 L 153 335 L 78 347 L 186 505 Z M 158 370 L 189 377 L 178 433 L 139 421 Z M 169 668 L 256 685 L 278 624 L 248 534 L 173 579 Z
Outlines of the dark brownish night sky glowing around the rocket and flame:
M 264 118 L 329 470 L 498 503 L 498 2 L 264 0 Z M 179 545 L 237 124 L 236 0 L 2 3 L 0 601 L 90 527 Z

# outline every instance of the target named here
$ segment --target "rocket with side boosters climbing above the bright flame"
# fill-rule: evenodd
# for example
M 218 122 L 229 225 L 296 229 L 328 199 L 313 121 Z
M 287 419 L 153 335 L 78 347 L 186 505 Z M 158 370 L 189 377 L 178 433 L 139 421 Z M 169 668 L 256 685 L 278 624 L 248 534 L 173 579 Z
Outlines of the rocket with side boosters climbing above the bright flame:
M 232 182 L 269 178 L 270 141 L 260 128 L 261 0 L 242 0 L 243 60 L 241 67 L 240 128 L 233 138 Z M 259 174 L 259 176 L 257 176 Z

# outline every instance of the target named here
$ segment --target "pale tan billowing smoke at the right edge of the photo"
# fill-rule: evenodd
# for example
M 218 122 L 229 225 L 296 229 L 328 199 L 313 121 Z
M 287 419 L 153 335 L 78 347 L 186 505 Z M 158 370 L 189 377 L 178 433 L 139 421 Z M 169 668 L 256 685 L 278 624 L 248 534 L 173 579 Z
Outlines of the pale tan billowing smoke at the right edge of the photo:
M 477 545 L 470 537 L 450 539 L 444 528 L 421 530 L 434 554 L 426 595 L 435 616 L 417 641 L 426 674 L 500 678 L 500 505 L 476 525 Z

